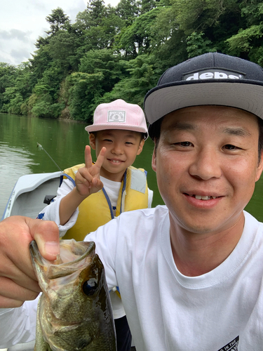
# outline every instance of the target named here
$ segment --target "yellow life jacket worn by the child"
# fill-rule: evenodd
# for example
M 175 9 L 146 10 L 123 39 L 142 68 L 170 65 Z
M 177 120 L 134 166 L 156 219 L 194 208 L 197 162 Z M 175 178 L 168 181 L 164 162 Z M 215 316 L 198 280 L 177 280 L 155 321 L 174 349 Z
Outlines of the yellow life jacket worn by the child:
M 69 178 L 75 185 L 75 174 L 85 164 L 67 168 L 62 177 Z M 62 183 L 62 181 L 61 181 Z M 142 168 L 130 166 L 124 173 L 116 206 L 116 216 L 122 212 L 148 207 L 148 185 L 146 172 Z M 91 194 L 79 205 L 79 216 L 72 228 L 67 230 L 63 239 L 82 241 L 86 234 L 94 232 L 101 225 L 114 218 L 112 204 L 107 192 L 102 188 Z

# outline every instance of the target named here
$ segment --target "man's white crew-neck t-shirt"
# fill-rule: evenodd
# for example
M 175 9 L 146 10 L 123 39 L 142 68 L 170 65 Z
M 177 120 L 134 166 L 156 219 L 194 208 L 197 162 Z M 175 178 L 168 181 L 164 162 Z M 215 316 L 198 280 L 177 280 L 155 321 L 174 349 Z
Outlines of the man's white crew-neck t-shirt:
M 109 288 L 120 287 L 137 351 L 262 351 L 263 225 L 250 214 L 234 251 L 198 277 L 177 270 L 166 206 L 122 213 L 86 240 L 95 241 Z M 13 311 L 0 317 L 0 347 L 20 322 L 34 324 L 34 314 L 25 322 L 22 307 Z

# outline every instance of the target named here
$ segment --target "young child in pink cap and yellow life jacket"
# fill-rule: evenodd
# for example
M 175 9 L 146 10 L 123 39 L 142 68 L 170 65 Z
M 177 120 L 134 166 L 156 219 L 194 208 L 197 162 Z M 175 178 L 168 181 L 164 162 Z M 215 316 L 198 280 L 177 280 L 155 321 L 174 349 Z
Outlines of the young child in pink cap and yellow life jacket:
M 123 100 L 98 105 L 93 125 L 85 129 L 97 161 L 93 163 L 86 146 L 85 164 L 65 170 L 57 197 L 39 213 L 39 218 L 57 223 L 63 239 L 83 240 L 124 211 L 151 207 L 153 192 L 146 172 L 132 166 L 148 137 L 140 106 Z M 90 175 L 96 176 L 92 183 Z M 130 330 L 118 290 L 110 295 L 117 350 L 130 351 Z

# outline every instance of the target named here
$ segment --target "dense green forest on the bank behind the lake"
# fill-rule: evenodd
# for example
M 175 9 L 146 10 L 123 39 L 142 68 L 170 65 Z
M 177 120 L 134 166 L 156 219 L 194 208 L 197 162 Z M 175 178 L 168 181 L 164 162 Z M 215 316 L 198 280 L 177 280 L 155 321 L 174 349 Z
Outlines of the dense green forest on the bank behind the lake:
M 102 102 L 143 107 L 161 74 L 217 51 L 263 65 L 258 0 L 88 0 L 74 23 L 62 8 L 18 66 L 0 62 L 0 112 L 92 123 Z

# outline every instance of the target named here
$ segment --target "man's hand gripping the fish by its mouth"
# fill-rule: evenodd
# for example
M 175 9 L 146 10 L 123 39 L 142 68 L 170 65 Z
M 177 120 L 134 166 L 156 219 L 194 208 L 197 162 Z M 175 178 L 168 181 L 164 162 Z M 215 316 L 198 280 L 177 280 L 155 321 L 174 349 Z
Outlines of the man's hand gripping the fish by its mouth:
M 20 216 L 0 223 L 0 308 L 19 307 L 41 291 L 29 255 L 32 239 L 46 259 L 56 258 L 60 249 L 55 223 Z

